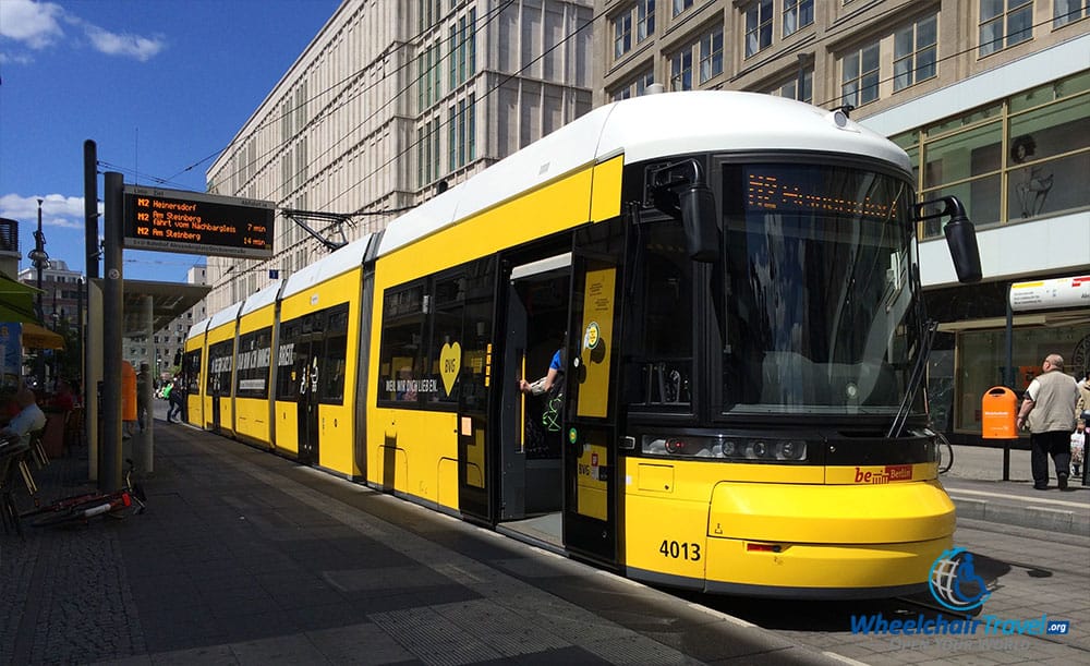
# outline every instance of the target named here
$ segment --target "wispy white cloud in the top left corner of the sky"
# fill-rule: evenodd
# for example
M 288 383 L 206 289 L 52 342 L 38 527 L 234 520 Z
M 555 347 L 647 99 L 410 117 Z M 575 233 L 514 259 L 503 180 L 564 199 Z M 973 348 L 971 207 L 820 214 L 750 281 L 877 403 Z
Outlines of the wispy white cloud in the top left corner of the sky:
M 64 37 L 61 23 L 78 26 L 92 48 L 107 56 L 134 58 L 147 62 L 167 47 L 159 35 L 145 37 L 128 33 L 112 33 L 104 27 L 66 13 L 60 5 L 33 0 L 0 0 L 0 37 L 12 39 L 24 47 L 40 50 Z M 25 55 L 4 53 L 4 62 L 27 63 Z

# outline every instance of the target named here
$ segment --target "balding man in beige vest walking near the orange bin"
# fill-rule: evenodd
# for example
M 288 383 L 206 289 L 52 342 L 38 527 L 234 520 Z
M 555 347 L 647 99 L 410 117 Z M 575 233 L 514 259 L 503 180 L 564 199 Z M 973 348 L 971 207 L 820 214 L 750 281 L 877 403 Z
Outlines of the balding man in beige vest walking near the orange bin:
M 1056 468 L 1056 484 L 1061 491 L 1066 491 L 1071 471 L 1071 431 L 1075 429 L 1079 387 L 1074 377 L 1064 374 L 1064 358 L 1059 354 L 1045 356 L 1041 370 L 1026 389 L 1016 425 L 1018 428 L 1029 425 L 1033 488 L 1049 488 L 1051 456 Z

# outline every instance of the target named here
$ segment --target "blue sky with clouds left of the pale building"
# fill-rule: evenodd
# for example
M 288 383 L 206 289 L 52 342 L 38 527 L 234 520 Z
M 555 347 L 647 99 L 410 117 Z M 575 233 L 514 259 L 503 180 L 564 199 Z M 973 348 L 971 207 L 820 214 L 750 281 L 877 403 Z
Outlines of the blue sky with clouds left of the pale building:
M 86 273 L 88 138 L 99 171 L 125 184 L 203 192 L 205 170 L 339 4 L 0 0 L 0 217 L 20 222 L 20 268 L 41 198 L 46 252 Z M 101 175 L 98 187 L 101 197 Z M 132 250 L 124 259 L 126 278 L 162 281 L 204 261 Z

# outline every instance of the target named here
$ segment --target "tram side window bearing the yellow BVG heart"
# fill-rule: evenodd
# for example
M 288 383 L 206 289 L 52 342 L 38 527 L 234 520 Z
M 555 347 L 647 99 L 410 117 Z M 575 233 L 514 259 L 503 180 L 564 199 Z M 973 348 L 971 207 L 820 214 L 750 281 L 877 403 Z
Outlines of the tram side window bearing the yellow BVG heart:
M 462 311 L 465 304 L 465 278 L 459 271 L 435 280 L 433 289 L 432 335 L 428 343 L 428 366 L 423 385 L 428 404 L 457 404 L 461 370 Z M 448 393 L 447 388 L 450 391 Z

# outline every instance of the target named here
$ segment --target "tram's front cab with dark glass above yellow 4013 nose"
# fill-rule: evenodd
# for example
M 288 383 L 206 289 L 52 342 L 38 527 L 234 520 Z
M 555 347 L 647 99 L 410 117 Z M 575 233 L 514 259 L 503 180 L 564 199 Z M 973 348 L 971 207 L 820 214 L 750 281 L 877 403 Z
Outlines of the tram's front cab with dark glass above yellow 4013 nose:
M 629 573 L 785 597 L 920 591 L 955 517 L 918 390 L 909 174 L 833 154 L 692 161 L 695 177 L 678 162 L 645 181 L 683 223 L 644 214 L 630 232 Z

